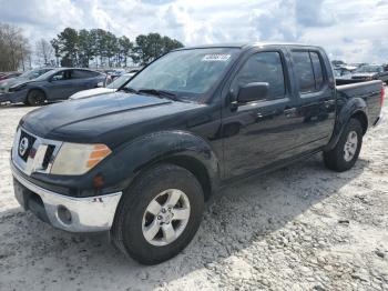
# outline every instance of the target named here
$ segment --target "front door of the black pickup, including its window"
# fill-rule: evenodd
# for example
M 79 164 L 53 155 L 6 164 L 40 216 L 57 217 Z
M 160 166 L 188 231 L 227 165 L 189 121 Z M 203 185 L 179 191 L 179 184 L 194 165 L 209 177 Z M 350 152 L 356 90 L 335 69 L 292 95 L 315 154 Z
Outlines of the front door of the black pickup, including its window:
M 288 84 L 286 59 L 282 50 L 251 54 L 229 86 L 235 99 L 241 87 L 267 82 L 268 97 L 223 110 L 224 177 L 246 174 L 290 157 L 299 142 L 294 133 L 297 121 L 289 118 L 295 100 Z

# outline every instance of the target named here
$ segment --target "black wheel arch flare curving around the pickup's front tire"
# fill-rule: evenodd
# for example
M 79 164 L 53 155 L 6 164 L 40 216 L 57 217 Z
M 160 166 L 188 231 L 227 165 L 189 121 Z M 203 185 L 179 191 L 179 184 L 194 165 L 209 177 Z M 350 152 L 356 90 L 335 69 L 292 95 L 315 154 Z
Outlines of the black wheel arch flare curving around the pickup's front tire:
M 129 189 L 142 173 L 161 163 L 172 163 L 192 172 L 201 183 L 205 200 L 219 185 L 219 163 L 211 144 L 191 132 L 169 131 L 147 134 L 118 149 L 98 170 L 111 185 Z M 112 168 L 116 171 L 112 171 Z

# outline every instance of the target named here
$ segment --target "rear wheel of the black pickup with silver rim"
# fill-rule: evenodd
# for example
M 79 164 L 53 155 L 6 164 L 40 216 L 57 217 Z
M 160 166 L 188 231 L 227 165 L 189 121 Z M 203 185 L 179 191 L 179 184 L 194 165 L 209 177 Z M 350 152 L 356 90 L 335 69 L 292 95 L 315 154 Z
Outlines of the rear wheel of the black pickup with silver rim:
M 357 119 L 350 119 L 336 147 L 324 152 L 325 165 L 337 172 L 351 169 L 361 150 L 363 136 L 361 123 Z

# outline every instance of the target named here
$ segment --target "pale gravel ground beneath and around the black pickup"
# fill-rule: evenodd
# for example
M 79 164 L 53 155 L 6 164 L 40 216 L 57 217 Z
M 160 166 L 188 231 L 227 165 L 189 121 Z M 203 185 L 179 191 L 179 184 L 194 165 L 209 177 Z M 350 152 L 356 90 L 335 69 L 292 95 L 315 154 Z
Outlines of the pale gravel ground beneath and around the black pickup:
M 225 189 L 188 248 L 143 267 L 104 234 L 59 231 L 18 205 L 9 154 L 30 110 L 0 109 L 0 290 L 388 290 L 387 120 L 353 170 L 316 155 Z

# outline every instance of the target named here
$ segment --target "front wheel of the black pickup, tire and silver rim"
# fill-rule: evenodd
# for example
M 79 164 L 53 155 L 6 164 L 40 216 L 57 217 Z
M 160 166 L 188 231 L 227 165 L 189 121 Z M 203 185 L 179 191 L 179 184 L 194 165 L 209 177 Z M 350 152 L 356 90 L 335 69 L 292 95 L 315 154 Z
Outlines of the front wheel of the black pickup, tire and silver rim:
M 185 197 L 176 190 L 182 191 Z M 180 200 L 171 212 L 163 214 L 163 205 L 169 204 L 169 199 L 177 195 L 176 193 L 181 194 Z M 157 207 L 160 211 L 153 210 L 155 214 L 151 214 L 146 210 L 150 209 L 151 203 L 154 203 L 155 198 L 159 199 L 156 202 L 162 205 L 162 209 Z M 112 242 L 124 254 L 142 264 L 161 263 L 175 257 L 192 241 L 200 228 L 203 208 L 203 189 L 193 173 L 174 164 L 156 165 L 124 191 L 111 229 Z M 190 209 L 188 214 L 187 209 Z M 176 211 L 180 210 L 185 211 L 187 219 L 174 220 L 170 217 L 169 222 L 169 213 L 175 212 L 176 219 L 178 217 Z M 156 223 L 160 223 L 157 233 L 154 237 L 151 234 L 147 240 L 144 233 L 153 229 Z M 167 242 L 165 233 L 171 228 L 175 229 L 175 237 Z

